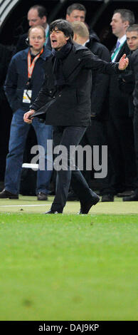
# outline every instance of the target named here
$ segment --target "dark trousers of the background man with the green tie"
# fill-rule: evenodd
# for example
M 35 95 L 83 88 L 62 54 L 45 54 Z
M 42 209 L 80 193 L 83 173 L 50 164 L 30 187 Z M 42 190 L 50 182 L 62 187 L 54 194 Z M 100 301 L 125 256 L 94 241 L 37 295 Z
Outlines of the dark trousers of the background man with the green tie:
M 136 175 L 134 133 L 131 118 L 112 118 L 107 124 L 107 136 L 114 173 L 110 178 L 110 193 L 134 189 Z

